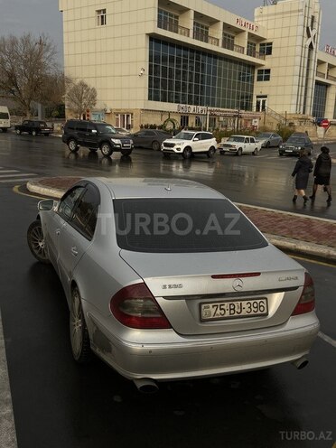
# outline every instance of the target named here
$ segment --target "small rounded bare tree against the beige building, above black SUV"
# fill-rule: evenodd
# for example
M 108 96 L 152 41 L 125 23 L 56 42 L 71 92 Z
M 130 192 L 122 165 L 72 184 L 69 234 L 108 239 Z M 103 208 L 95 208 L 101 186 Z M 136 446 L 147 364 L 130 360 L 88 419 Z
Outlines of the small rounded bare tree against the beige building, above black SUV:
M 96 103 L 97 90 L 94 87 L 89 87 L 83 79 L 70 84 L 65 95 L 65 104 L 77 117 L 82 117 L 86 110 L 94 107 Z

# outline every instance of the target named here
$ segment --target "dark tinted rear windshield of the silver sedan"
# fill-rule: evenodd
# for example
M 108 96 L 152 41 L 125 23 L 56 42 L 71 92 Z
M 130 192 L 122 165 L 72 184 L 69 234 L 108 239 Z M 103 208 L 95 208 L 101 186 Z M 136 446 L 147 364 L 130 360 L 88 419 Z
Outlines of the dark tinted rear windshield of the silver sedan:
M 221 252 L 266 247 L 266 239 L 228 200 L 114 201 L 117 244 L 135 252 Z

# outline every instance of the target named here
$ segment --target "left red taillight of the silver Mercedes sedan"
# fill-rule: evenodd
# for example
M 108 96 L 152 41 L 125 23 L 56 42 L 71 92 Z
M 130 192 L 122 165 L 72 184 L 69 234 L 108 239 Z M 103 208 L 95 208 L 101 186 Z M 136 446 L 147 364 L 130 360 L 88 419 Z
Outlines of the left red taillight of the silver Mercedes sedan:
M 145 283 L 129 285 L 115 294 L 110 303 L 111 313 L 126 327 L 137 329 L 171 328 L 160 306 Z

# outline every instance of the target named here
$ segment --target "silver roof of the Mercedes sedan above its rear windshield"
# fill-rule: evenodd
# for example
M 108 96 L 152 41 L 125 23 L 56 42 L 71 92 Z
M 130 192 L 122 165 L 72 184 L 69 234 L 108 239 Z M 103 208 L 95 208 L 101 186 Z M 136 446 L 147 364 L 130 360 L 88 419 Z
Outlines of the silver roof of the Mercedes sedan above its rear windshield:
M 161 178 L 88 178 L 90 182 L 104 184 L 114 199 L 135 198 L 203 198 L 224 199 L 219 191 L 200 182 L 185 179 Z

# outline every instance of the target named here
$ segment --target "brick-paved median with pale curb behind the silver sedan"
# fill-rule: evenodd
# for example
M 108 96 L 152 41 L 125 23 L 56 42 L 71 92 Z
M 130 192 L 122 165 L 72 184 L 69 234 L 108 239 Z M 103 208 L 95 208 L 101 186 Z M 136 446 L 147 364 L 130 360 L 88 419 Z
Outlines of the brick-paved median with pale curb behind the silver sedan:
M 27 189 L 59 199 L 80 177 L 49 177 L 27 182 Z M 236 204 L 266 238 L 286 252 L 336 263 L 336 221 Z

